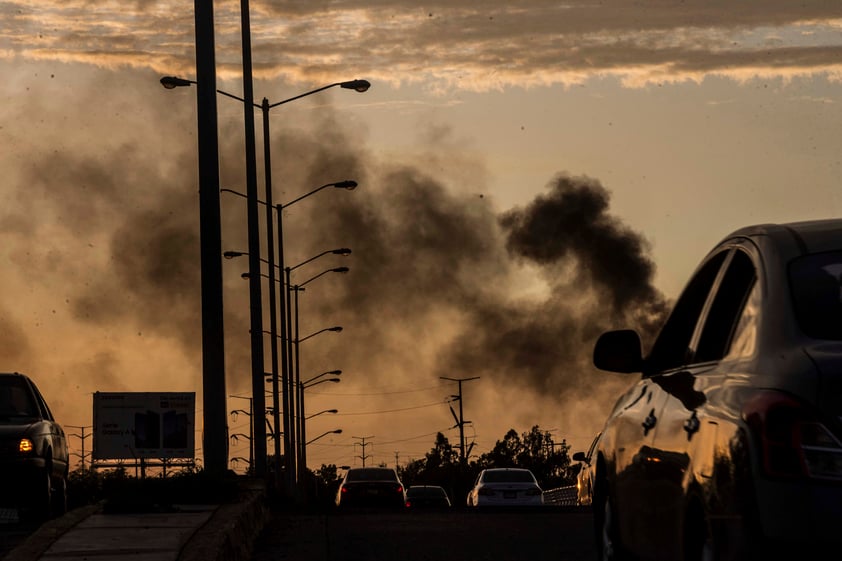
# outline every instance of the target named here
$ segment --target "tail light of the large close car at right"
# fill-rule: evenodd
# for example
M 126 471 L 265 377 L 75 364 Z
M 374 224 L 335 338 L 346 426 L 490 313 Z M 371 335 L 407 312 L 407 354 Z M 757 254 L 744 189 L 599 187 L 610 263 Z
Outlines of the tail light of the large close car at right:
M 799 401 L 760 392 L 743 407 L 743 418 L 760 439 L 767 474 L 842 479 L 842 443 Z

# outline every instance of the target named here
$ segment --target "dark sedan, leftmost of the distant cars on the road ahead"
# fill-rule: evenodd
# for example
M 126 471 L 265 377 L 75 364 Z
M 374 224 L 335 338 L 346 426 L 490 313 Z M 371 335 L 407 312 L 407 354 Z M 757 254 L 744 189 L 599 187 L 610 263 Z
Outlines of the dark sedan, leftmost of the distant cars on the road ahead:
M 336 506 L 403 508 L 406 491 L 397 472 L 386 467 L 351 468 L 345 472 Z

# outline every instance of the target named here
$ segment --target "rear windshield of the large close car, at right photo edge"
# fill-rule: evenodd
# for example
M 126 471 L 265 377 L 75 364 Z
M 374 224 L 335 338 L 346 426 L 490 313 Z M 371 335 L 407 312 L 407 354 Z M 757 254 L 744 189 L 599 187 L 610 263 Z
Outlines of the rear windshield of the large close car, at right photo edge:
M 842 251 L 792 262 L 789 280 L 802 331 L 816 339 L 842 340 Z

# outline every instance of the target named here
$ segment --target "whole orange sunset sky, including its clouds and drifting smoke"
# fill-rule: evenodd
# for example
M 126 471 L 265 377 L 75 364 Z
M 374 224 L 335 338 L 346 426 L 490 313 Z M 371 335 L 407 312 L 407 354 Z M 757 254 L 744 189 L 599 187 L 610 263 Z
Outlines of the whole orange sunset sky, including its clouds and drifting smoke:
M 217 87 L 240 96 L 240 3 L 214 10 Z M 200 431 L 196 91 L 159 83 L 196 77 L 193 2 L 0 14 L 0 371 L 33 377 L 68 426 L 91 425 L 96 391 L 195 391 Z M 834 0 L 252 0 L 250 15 L 257 102 L 372 84 L 271 112 L 275 202 L 359 183 L 284 214 L 288 265 L 353 251 L 294 273 L 350 268 L 301 294 L 302 337 L 344 328 L 301 343 L 303 379 L 343 371 L 306 394 L 307 414 L 339 410 L 308 438 L 343 430 L 308 447 L 311 468 L 458 443 L 441 377 L 479 377 L 463 386 L 472 454 L 535 425 L 584 449 L 630 382 L 591 365 L 600 332 L 651 334 L 737 227 L 842 212 Z M 220 187 L 244 191 L 243 107 L 217 103 Z M 223 193 L 221 212 L 223 248 L 246 251 L 243 199 Z M 226 390 L 247 398 L 246 269 L 223 263 Z

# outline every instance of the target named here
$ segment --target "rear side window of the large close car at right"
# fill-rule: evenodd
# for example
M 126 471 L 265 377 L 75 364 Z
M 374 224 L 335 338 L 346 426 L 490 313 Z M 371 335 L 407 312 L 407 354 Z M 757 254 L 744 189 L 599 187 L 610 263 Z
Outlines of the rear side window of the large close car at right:
M 744 251 L 735 250 L 705 318 L 694 362 L 719 360 L 725 356 L 756 281 L 757 272 L 751 257 Z

